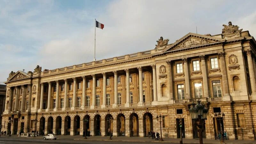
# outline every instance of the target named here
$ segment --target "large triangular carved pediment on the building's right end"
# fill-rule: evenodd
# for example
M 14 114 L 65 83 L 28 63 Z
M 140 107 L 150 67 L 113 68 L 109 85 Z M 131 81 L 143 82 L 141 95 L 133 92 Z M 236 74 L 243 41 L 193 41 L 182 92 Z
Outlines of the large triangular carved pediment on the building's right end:
M 163 50 L 163 52 L 187 49 L 189 47 L 213 44 L 221 41 L 225 41 L 225 39 L 220 39 L 212 36 L 199 35 L 194 33 L 188 33 L 186 36 L 183 36 L 172 45 L 166 47 Z

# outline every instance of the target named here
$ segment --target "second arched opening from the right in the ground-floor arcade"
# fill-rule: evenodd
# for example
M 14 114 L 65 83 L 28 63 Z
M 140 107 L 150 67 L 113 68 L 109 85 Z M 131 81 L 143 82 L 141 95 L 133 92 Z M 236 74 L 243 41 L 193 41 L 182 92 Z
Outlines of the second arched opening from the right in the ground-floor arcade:
M 139 116 L 136 113 L 130 115 L 130 136 L 139 136 Z

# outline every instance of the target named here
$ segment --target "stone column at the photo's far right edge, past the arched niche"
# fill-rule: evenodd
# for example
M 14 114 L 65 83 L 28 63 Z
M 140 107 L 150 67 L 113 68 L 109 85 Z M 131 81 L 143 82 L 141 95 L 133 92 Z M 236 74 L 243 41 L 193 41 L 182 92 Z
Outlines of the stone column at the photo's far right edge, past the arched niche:
M 251 89 L 252 89 L 250 100 L 255 100 L 256 99 L 256 83 L 255 83 L 255 75 L 254 75 L 253 62 L 252 62 L 252 50 L 247 50 L 246 55 L 248 60 L 248 69 L 249 69 Z

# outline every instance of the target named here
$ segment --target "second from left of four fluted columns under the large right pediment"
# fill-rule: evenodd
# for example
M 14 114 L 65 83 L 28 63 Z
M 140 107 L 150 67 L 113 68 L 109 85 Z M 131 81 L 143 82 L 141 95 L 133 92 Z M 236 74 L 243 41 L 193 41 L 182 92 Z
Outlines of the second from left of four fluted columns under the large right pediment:
M 191 99 L 190 96 L 190 84 L 189 84 L 189 73 L 188 73 L 188 58 L 183 58 L 182 59 L 184 62 L 184 75 L 185 75 L 185 99 Z

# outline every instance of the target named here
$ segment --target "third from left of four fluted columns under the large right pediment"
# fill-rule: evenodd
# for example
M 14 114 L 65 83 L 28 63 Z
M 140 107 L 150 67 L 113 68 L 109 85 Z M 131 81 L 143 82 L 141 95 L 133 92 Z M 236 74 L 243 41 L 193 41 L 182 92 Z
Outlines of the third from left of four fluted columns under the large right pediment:
M 207 77 L 207 71 L 206 71 L 206 63 L 205 63 L 205 55 L 199 56 L 202 62 L 202 76 L 203 76 L 203 88 L 204 88 L 204 98 L 209 98 L 209 92 L 208 92 L 208 77 Z

